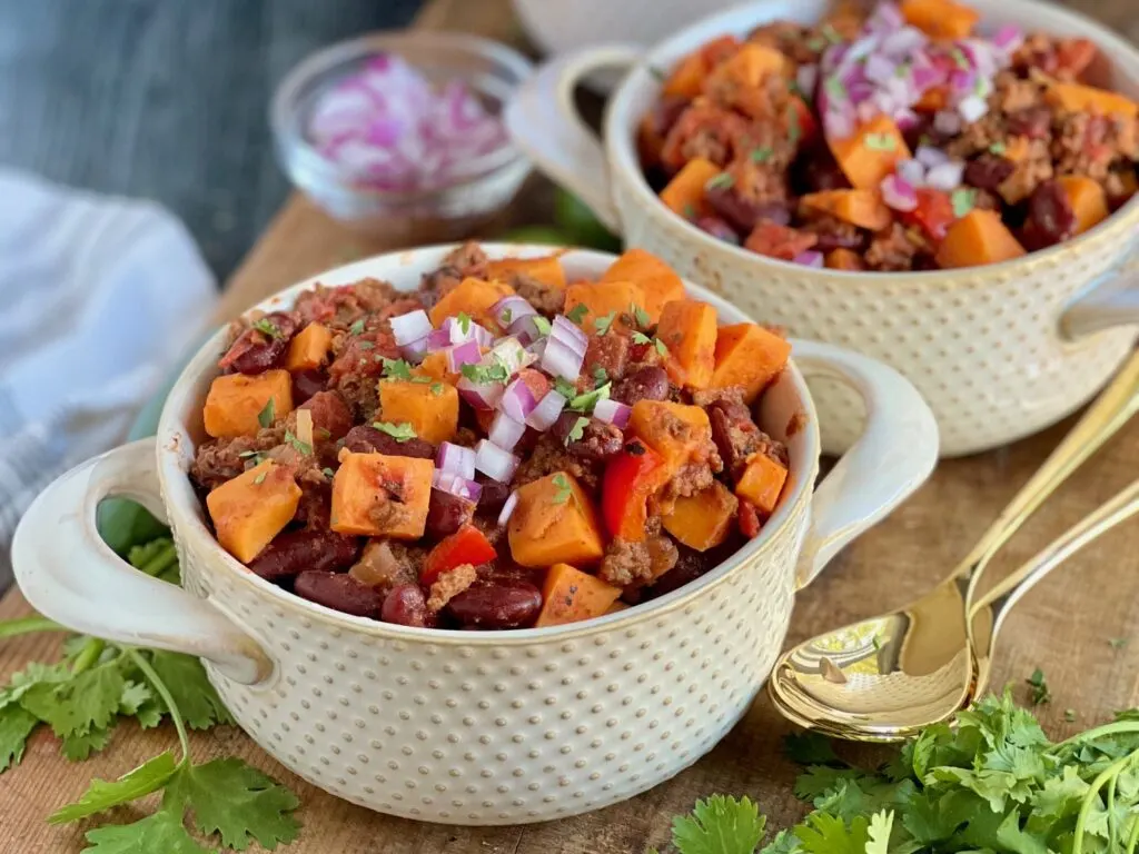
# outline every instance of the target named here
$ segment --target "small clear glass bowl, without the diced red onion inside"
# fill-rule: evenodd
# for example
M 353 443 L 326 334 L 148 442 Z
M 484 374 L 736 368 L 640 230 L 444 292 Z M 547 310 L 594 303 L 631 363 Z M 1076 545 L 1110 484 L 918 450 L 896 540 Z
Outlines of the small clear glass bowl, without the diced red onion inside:
M 380 190 L 312 147 L 309 118 L 321 93 L 379 54 L 394 54 L 433 84 L 462 80 L 501 117 L 533 67 L 505 44 L 460 33 L 374 34 L 333 44 L 297 65 L 273 95 L 270 123 L 281 167 L 309 198 L 353 230 L 390 245 L 467 237 L 505 207 L 530 173 L 508 140 L 470 162 L 453 183 L 427 190 Z

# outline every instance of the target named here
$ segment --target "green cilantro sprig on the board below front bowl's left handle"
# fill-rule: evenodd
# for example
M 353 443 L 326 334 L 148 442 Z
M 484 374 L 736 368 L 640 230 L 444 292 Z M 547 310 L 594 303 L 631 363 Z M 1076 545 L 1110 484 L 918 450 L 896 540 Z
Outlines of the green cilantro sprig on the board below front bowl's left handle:
M 179 582 L 178 556 L 169 536 L 134 547 L 128 555 L 140 572 Z M 64 631 L 43 617 L 0 623 L 0 638 Z M 179 753 L 158 754 L 115 780 L 95 779 L 80 798 L 52 813 L 62 824 L 133 803 L 161 791 L 158 808 L 130 824 L 87 831 L 88 854 L 210 854 L 220 844 L 245 851 L 253 841 L 273 849 L 293 841 L 300 824 L 296 796 L 238 758 L 192 762 L 187 730 L 232 723 L 198 659 L 177 652 L 137 649 L 79 635 L 64 643 L 54 664 L 33 662 L 0 688 L 0 772 L 19 763 L 32 732 L 46 724 L 62 741 L 64 756 L 85 759 L 103 750 L 128 718 L 151 729 L 170 718 Z M 208 840 L 199 838 L 187 827 Z

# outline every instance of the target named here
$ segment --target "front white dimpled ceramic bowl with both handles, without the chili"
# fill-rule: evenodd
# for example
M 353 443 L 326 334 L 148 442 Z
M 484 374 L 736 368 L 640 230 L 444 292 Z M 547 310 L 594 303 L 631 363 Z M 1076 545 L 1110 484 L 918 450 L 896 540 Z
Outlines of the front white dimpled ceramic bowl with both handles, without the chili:
M 412 289 L 452 247 L 339 268 L 262 303 L 292 305 L 318 280 L 363 277 Z M 548 248 L 487 246 L 492 255 Z M 596 277 L 601 253 L 563 256 Z M 721 320 L 743 314 L 699 288 Z M 936 460 L 933 416 L 893 370 L 837 347 L 794 342 L 794 364 L 760 421 L 786 440 L 790 478 L 762 533 L 696 582 L 621 614 L 515 632 L 432 631 L 353 617 L 270 584 L 223 551 L 187 477 L 202 403 L 226 346 L 215 335 L 179 378 L 156 438 L 60 477 L 28 509 L 13 563 L 41 613 L 80 632 L 206 659 L 238 724 L 292 771 L 380 812 L 508 824 L 631 797 L 712 748 L 768 678 L 796 585 L 912 492 Z M 816 488 L 819 430 L 800 370 L 867 399 L 863 437 Z M 795 413 L 805 426 L 787 436 Z M 169 520 L 186 590 L 141 575 L 95 528 L 99 501 L 124 495 Z

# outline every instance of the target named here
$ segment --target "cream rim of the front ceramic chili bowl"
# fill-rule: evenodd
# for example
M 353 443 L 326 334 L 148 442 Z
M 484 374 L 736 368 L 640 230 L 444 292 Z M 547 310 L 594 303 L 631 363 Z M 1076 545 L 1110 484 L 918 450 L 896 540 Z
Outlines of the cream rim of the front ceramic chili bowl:
M 387 281 L 395 278 L 391 276 L 392 270 L 386 270 L 382 274 L 377 274 L 377 272 L 380 272 L 377 271 L 377 266 L 383 268 L 398 264 L 411 268 L 407 271 L 407 274 L 415 276 L 418 281 L 418 277 L 427 269 L 431 269 L 425 266 L 425 258 L 433 258 L 437 262 L 448 252 L 460 245 L 440 244 L 416 249 L 390 252 L 333 268 L 277 291 L 241 312 L 241 317 L 254 311 L 279 311 L 284 305 L 292 305 L 298 294 L 312 289 L 329 277 L 333 277 L 335 280 L 335 284 L 331 285 L 333 287 L 369 277 Z M 577 247 L 509 243 L 481 243 L 480 246 L 492 258 L 539 257 L 551 253 L 557 253 L 559 256 L 571 255 L 574 258 L 580 258 L 583 263 L 597 265 L 598 273 L 601 270 L 601 264 L 608 265 L 617 257 L 611 253 Z M 384 278 L 385 276 L 388 278 Z M 399 285 L 396 286 L 399 287 Z M 719 317 L 730 322 L 755 322 L 745 312 L 707 289 L 693 285 L 687 280 L 685 280 L 685 287 L 694 297 L 713 305 Z M 543 626 L 540 629 L 514 629 L 486 632 L 425 629 L 402 626 L 393 623 L 384 623 L 371 617 L 344 614 L 343 611 L 337 611 L 303 599 L 249 572 L 248 567 L 221 547 L 216 537 L 206 527 L 202 502 L 195 493 L 188 471 L 188 463 L 192 459 L 196 445 L 189 429 L 187 429 L 187 425 L 182 420 L 181 412 L 187 405 L 196 405 L 197 410 L 200 410 L 200 395 L 194 394 L 194 389 L 196 386 L 203 385 L 207 378 L 212 379 L 212 377 L 216 376 L 216 359 L 219 352 L 224 346 L 228 330 L 228 323 L 222 326 L 210 336 L 187 363 L 171 388 L 158 421 L 156 438 L 158 479 L 162 486 L 163 503 L 166 508 L 169 523 L 172 528 L 177 528 L 178 536 L 175 536 L 175 540 L 180 541 L 180 553 L 185 555 L 187 551 L 197 552 L 202 555 L 211 567 L 224 567 L 223 572 L 229 577 L 252 589 L 256 594 L 264 597 L 267 601 L 272 601 L 278 608 L 293 610 L 302 618 L 320 618 L 325 623 L 344 631 L 393 641 L 426 642 L 440 646 L 501 647 L 567 640 L 615 631 L 648 619 L 659 618 L 665 614 L 685 608 L 693 599 L 705 596 L 708 591 L 719 588 L 730 576 L 753 564 L 760 555 L 775 549 L 778 535 L 786 534 L 786 528 L 792 523 L 793 517 L 803 509 L 803 504 L 811 501 L 814 492 L 821 447 L 818 416 L 810 392 L 808 391 L 806 381 L 792 360 L 788 361 L 788 366 L 780 378 L 776 380 L 777 383 L 787 381 L 790 384 L 796 405 L 806 416 L 806 424 L 803 429 L 795 434 L 796 438 L 802 437 L 803 450 L 798 453 L 801 457 L 798 471 L 792 473 L 792 490 L 770 516 L 767 525 L 764 525 L 757 536 L 753 537 L 743 548 L 700 577 L 657 599 L 642 602 L 624 611 L 607 614 L 577 623 Z M 796 550 L 795 557 L 798 557 L 798 550 Z M 792 575 L 794 570 L 794 566 L 787 568 L 787 572 Z M 220 605 L 227 613 L 230 611 L 230 609 L 226 608 L 224 602 Z M 236 615 L 230 614 L 230 616 L 237 623 L 245 624 L 245 621 L 236 617 Z

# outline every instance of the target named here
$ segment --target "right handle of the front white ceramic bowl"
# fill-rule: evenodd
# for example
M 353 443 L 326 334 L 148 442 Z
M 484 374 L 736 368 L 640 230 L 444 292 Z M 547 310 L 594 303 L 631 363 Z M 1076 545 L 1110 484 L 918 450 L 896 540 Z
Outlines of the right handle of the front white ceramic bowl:
M 910 381 L 882 362 L 810 340 L 794 340 L 792 352 L 805 376 L 850 385 L 867 409 L 862 435 L 814 491 L 798 559 L 803 588 L 925 482 L 937 463 L 937 421 Z

